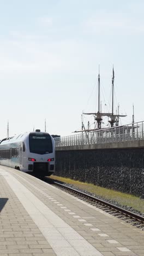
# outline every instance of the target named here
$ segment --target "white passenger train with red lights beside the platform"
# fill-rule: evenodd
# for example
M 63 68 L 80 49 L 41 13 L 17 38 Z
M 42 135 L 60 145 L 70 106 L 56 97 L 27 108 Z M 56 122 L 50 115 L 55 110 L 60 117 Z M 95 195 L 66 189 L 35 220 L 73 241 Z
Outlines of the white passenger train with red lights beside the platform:
M 50 176 L 55 172 L 55 141 L 40 130 L 4 138 L 0 142 L 0 164 Z

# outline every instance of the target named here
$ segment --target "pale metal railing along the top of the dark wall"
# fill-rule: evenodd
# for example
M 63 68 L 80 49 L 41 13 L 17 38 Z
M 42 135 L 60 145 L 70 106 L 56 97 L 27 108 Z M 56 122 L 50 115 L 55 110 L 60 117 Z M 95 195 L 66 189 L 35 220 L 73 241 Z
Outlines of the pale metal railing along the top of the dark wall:
M 139 123 L 115 126 L 91 132 L 82 132 L 66 137 L 58 137 L 55 138 L 55 145 L 56 147 L 68 147 L 143 139 L 143 125 L 144 121 L 141 121 Z

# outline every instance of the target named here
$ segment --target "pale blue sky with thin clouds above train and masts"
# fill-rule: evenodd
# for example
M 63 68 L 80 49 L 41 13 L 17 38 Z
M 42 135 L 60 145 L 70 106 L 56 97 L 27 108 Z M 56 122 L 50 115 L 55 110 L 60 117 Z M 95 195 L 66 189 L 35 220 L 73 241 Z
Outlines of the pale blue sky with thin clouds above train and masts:
M 121 124 L 143 121 L 142 0 L 0 0 L 0 139 L 33 131 L 68 136 L 82 112 L 103 112 Z M 85 127 L 94 118 L 83 117 Z M 107 120 L 104 120 L 107 124 Z

